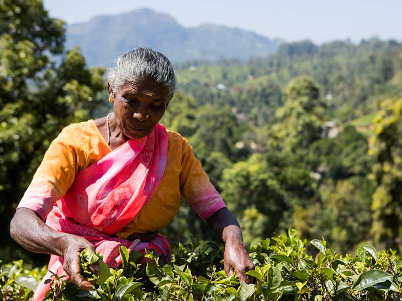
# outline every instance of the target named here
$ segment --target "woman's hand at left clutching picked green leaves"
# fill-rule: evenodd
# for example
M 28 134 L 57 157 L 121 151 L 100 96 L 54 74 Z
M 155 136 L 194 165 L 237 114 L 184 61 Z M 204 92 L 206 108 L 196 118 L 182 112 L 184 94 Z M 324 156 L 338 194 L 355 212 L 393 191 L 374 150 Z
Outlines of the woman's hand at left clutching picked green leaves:
M 63 269 L 71 277 L 71 280 L 80 288 L 85 290 L 92 289 L 92 284 L 81 274 L 81 251 L 90 248 L 95 253 L 95 247 L 85 238 L 65 234 L 60 237 L 60 248 L 64 258 Z M 90 267 L 94 273 L 99 273 L 99 263 L 95 262 Z

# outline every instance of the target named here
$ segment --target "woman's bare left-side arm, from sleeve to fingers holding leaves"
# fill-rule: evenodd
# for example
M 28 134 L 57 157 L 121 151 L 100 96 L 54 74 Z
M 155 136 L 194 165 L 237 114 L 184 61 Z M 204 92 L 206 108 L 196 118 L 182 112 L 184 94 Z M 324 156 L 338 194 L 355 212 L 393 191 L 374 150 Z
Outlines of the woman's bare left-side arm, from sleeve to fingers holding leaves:
M 31 209 L 19 208 L 10 224 L 11 237 L 25 249 L 64 258 L 63 269 L 81 289 L 91 289 L 92 284 L 80 274 L 80 252 L 95 247 L 85 238 L 55 231 L 48 227 Z M 92 267 L 99 272 L 99 266 Z

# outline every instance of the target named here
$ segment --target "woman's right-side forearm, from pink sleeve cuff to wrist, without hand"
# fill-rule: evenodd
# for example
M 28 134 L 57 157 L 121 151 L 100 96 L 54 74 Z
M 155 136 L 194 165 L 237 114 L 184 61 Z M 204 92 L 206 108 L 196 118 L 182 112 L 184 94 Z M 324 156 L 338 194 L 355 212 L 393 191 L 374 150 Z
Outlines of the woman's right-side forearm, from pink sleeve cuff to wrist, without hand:
M 243 242 L 242 231 L 236 217 L 228 208 L 222 208 L 207 219 L 208 224 L 224 242 L 236 239 Z

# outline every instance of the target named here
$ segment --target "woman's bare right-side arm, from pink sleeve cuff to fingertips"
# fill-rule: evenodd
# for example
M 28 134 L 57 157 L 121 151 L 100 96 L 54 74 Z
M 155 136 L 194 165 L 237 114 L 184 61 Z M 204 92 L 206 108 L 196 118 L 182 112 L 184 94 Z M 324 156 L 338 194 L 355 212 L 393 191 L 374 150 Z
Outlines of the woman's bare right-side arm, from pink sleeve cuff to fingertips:
M 222 208 L 207 219 L 208 224 L 225 242 L 224 264 L 228 276 L 236 271 L 240 281 L 251 282 L 246 272 L 254 269 L 243 243 L 242 231 L 236 217 L 228 208 Z

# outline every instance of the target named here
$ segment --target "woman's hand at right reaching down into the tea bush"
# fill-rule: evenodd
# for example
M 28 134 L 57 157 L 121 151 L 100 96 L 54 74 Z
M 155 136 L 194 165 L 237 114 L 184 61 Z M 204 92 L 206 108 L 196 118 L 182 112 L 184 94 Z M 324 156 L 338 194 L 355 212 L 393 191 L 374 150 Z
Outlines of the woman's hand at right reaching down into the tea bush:
M 240 281 L 246 283 L 252 282 L 252 277 L 246 275 L 246 272 L 254 269 L 254 264 L 247 253 L 243 242 L 237 238 L 228 239 L 224 254 L 225 272 L 228 276 L 236 271 Z

